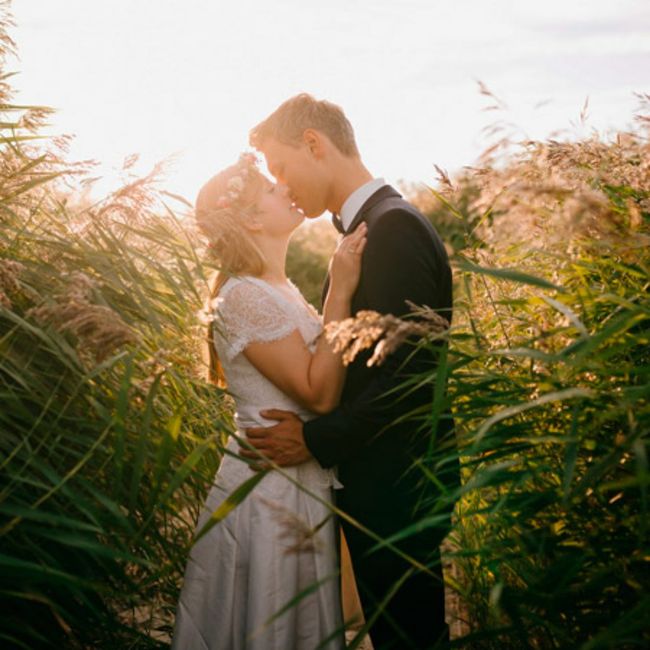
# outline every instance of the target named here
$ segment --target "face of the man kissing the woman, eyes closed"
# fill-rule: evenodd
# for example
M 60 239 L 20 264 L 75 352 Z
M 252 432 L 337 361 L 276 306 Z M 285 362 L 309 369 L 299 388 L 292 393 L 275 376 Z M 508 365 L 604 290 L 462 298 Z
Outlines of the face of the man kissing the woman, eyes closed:
M 267 138 L 260 150 L 271 174 L 289 188 L 291 199 L 306 217 L 327 210 L 327 170 L 306 144 L 293 146 Z

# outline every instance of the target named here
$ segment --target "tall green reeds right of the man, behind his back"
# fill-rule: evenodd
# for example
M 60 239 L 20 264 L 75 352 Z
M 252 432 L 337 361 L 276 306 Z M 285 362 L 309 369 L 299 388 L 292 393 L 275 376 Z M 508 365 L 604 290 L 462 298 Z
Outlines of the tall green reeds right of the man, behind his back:
M 650 642 L 646 115 L 613 141 L 526 143 L 434 191 L 465 236 L 440 370 L 463 464 L 455 647 Z

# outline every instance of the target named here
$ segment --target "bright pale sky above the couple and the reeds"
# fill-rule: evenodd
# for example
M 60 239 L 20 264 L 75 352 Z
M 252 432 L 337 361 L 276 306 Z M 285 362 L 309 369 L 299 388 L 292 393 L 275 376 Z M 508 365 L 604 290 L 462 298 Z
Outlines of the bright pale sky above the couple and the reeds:
M 176 154 L 166 188 L 198 187 L 251 126 L 307 91 L 340 104 L 377 176 L 434 182 L 485 146 L 497 114 L 522 137 L 625 129 L 650 92 L 650 0 L 14 0 L 17 99 L 53 106 L 71 159 L 103 171 Z

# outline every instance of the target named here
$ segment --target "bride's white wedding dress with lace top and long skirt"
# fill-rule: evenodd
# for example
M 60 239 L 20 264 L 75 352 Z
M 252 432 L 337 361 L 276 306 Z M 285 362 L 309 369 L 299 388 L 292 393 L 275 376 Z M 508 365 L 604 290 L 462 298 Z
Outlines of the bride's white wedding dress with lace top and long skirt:
M 311 414 L 242 354 L 296 328 L 313 349 L 322 325 L 293 285 L 230 278 L 216 300 L 215 344 L 236 402 L 239 435 L 268 426 L 260 410 Z M 223 500 L 253 476 L 230 439 L 200 516 L 200 530 Z M 339 484 L 314 460 L 271 471 L 192 548 L 177 608 L 176 650 L 340 650 L 344 647 L 337 538 L 328 504 Z M 293 607 L 292 600 L 302 595 Z M 281 612 L 281 613 L 279 613 Z M 279 613 L 279 615 L 278 615 Z M 338 632 L 337 632 L 338 630 Z M 329 641 L 327 641 L 329 639 Z

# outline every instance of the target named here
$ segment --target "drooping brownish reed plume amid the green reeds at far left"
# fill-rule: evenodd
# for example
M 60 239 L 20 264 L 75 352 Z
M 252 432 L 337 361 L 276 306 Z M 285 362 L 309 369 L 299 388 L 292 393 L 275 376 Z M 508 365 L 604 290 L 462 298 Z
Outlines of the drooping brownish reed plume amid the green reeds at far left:
M 138 336 L 110 307 L 90 302 L 94 287 L 85 273 L 72 273 L 70 284 L 53 303 L 33 307 L 27 316 L 70 332 L 79 339 L 80 351 L 102 361 L 117 348 L 137 342 Z

